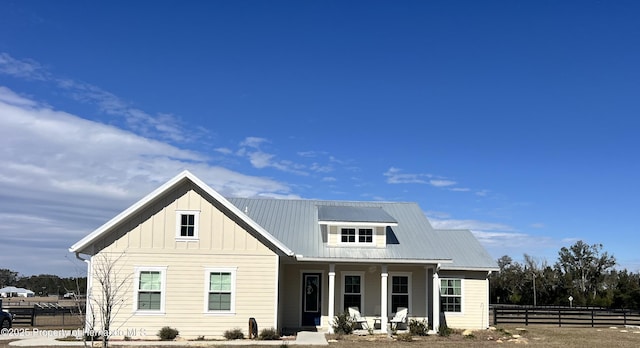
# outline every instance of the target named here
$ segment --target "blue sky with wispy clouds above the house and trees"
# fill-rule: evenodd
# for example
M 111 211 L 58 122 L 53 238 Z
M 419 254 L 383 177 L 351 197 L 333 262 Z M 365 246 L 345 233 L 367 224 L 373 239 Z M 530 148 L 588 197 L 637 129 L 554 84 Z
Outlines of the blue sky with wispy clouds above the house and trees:
M 635 1 L 5 1 L 0 268 L 183 169 L 229 196 L 418 202 L 495 258 L 640 270 Z

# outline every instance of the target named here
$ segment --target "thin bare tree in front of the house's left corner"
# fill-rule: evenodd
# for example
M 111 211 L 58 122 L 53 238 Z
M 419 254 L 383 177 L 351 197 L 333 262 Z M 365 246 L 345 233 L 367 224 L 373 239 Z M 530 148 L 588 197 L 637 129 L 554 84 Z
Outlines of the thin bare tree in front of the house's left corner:
M 131 286 L 131 273 L 122 270 L 124 255 L 124 252 L 119 255 L 101 253 L 91 259 L 93 289 L 89 290 L 87 296 L 90 312 L 100 319 L 103 348 L 109 345 L 113 320 L 122 308 Z

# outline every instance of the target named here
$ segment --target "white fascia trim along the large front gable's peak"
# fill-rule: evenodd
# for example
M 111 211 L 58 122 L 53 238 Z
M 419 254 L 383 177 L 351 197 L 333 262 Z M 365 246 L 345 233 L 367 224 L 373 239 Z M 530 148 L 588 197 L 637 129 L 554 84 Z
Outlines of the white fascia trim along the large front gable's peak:
M 146 195 L 141 200 L 134 203 L 132 206 L 116 215 L 113 219 L 109 220 L 104 225 L 98 227 L 96 230 L 91 232 L 86 237 L 82 238 L 80 241 L 76 242 L 69 248 L 70 252 L 80 252 L 82 249 L 86 248 L 92 242 L 96 241 L 98 238 L 102 237 L 105 233 L 107 233 L 111 228 L 133 215 L 140 209 L 144 208 L 152 202 L 154 199 L 164 194 L 165 192 L 171 190 L 175 186 L 181 184 L 184 180 L 190 180 L 200 189 L 205 191 L 208 195 L 213 197 L 213 199 L 220 202 L 225 208 L 229 209 L 233 214 L 242 219 L 247 225 L 257 231 L 260 235 L 262 235 L 266 240 L 275 245 L 280 251 L 282 251 L 287 256 L 293 256 L 294 253 L 285 246 L 282 242 L 276 239 L 271 233 L 267 232 L 262 226 L 258 225 L 255 221 L 249 218 L 245 213 L 243 213 L 240 209 L 238 209 L 235 205 L 231 204 L 226 198 L 216 192 L 214 189 L 209 187 L 209 185 L 205 184 L 202 180 L 198 179 L 195 175 L 191 174 L 188 170 L 183 171 L 182 173 L 176 175 L 171 180 L 164 183 L 162 186 L 155 189 L 153 192 Z

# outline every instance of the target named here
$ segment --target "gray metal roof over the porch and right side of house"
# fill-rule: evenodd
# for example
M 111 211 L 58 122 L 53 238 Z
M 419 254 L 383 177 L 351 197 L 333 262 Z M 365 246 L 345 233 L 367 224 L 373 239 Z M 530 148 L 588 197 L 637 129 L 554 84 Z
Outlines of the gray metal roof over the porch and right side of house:
M 253 198 L 228 200 L 302 259 L 367 259 L 407 263 L 450 260 L 451 263 L 442 264 L 443 269 L 497 269 L 496 262 L 470 231 L 435 230 L 416 203 Z M 341 209 L 345 209 L 345 212 L 340 212 Z M 356 220 L 347 220 L 351 215 Z M 397 225 L 387 227 L 386 248 L 330 247 L 326 243 L 326 236 L 323 238 L 323 229 L 318 223 L 323 219 L 319 219 L 319 216 L 355 222 L 364 222 L 360 220 L 365 218 L 377 219 L 380 220 L 377 222 L 394 222 Z

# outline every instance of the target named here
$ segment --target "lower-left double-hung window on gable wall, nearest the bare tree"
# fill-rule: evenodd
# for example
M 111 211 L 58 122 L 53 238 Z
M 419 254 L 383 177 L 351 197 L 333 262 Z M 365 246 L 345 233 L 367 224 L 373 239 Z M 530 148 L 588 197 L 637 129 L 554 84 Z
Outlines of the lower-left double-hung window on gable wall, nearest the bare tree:
M 164 313 L 166 267 L 136 268 L 137 313 Z

